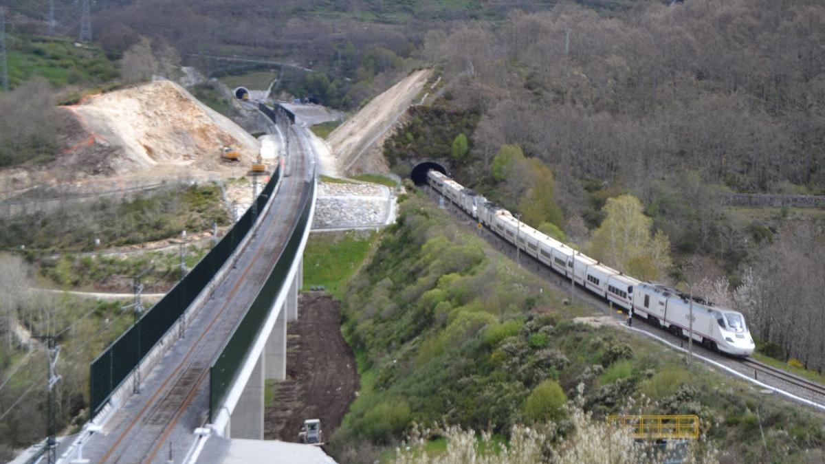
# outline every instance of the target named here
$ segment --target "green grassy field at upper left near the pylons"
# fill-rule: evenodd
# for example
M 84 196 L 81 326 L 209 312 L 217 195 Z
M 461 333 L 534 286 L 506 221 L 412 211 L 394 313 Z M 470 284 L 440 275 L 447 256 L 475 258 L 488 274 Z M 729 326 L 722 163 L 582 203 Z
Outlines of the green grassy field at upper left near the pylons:
M 116 64 L 97 45 L 77 47 L 68 39 L 13 35 L 7 47 L 12 88 L 34 76 L 56 87 L 106 83 L 120 76 Z

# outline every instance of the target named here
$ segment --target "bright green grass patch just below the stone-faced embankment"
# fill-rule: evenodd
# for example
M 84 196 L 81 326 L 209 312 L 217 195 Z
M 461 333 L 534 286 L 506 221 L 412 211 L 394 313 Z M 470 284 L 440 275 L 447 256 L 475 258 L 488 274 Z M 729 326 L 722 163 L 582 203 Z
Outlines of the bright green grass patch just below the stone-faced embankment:
M 311 286 L 324 286 L 340 298 L 344 282 L 361 267 L 377 235 L 347 232 L 344 234 L 312 234 L 304 251 L 304 291 Z

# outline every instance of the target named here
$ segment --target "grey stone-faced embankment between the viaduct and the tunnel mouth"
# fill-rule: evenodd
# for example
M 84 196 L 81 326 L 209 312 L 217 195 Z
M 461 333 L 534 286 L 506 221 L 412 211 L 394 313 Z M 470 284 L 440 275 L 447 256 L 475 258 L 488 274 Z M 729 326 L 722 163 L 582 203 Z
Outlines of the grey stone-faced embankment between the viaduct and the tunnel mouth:
M 395 197 L 372 183 L 321 182 L 313 230 L 379 227 L 391 221 Z

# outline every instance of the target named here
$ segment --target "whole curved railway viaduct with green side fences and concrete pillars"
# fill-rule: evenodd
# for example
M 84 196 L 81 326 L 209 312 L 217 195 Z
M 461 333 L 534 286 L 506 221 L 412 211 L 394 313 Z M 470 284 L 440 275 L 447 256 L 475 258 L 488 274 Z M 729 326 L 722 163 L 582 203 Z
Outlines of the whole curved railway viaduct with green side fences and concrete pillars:
M 263 438 L 264 382 L 286 376 L 317 182 L 308 129 L 278 113 L 267 116 L 287 116 L 276 121 L 289 131 L 285 163 L 162 301 L 135 301 L 133 327 L 92 362 L 92 419 L 57 462 L 196 462 L 210 440 Z

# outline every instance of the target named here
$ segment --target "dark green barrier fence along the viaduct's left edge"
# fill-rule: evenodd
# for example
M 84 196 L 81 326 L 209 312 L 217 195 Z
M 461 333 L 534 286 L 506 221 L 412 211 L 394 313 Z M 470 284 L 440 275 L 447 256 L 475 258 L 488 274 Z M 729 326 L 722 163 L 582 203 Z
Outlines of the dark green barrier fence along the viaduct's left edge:
M 155 344 L 167 333 L 172 325 L 180 319 L 186 308 L 200 295 L 212 280 L 216 272 L 232 256 L 252 225 L 257 220 L 257 211 L 272 196 L 281 169 L 276 168 L 269 182 L 266 183 L 255 204 L 250 206 L 241 219 L 224 235 L 218 244 L 206 253 L 206 256 L 175 285 L 161 301 L 146 311 L 134 325 L 120 335 L 106 348 L 106 351 L 92 361 L 89 373 L 89 397 L 92 415 L 97 414 L 106 405 L 126 377 L 137 367 Z

